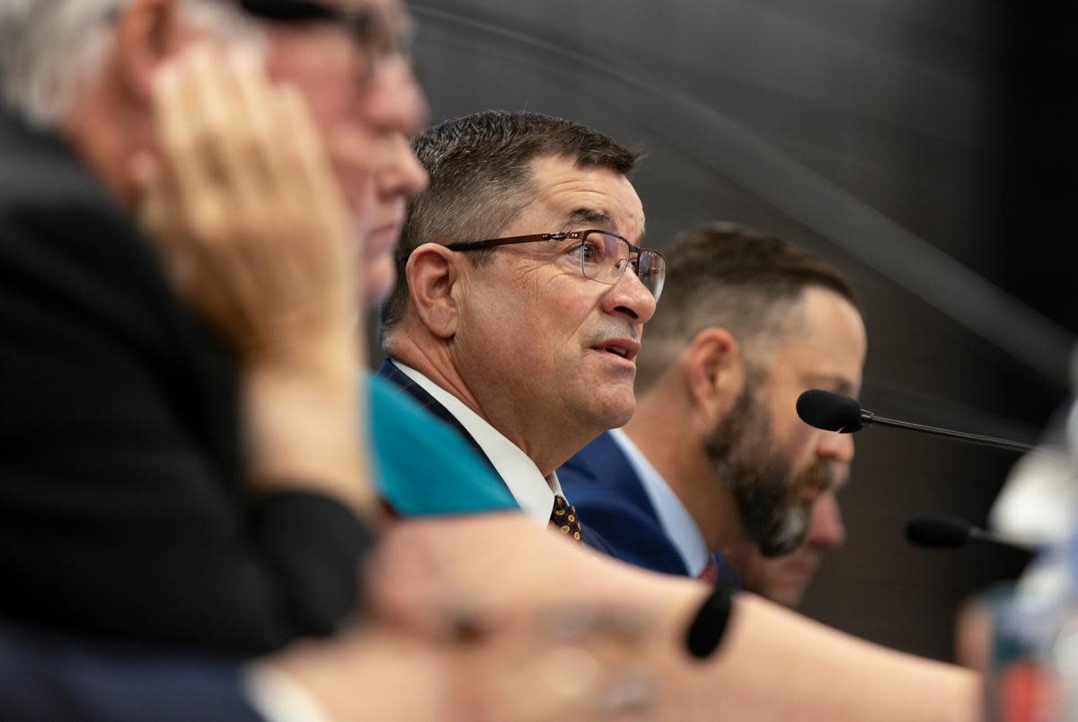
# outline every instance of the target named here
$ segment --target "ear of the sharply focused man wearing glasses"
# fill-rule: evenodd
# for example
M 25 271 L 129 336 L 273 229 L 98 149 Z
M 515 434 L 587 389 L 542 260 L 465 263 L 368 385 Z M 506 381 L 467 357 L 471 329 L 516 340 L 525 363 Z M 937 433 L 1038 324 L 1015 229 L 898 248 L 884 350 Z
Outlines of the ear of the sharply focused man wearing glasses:
M 439 338 L 457 332 L 458 308 L 453 296 L 459 275 L 453 251 L 439 244 L 424 244 L 404 266 L 409 296 L 415 315 Z

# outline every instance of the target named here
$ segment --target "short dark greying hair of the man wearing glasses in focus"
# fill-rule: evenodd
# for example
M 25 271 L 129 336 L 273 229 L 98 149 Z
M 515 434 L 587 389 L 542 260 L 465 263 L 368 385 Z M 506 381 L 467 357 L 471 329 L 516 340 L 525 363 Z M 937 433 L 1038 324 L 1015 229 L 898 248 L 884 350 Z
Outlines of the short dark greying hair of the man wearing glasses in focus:
M 379 337 L 407 308 L 404 266 L 427 242 L 494 238 L 534 199 L 531 162 L 566 157 L 577 166 L 609 168 L 628 176 L 639 154 L 580 123 L 541 113 L 483 111 L 445 121 L 417 137 L 412 148 L 430 176 L 427 190 L 412 198 L 393 253 L 397 284 L 382 307 Z M 469 253 L 488 262 L 492 251 Z

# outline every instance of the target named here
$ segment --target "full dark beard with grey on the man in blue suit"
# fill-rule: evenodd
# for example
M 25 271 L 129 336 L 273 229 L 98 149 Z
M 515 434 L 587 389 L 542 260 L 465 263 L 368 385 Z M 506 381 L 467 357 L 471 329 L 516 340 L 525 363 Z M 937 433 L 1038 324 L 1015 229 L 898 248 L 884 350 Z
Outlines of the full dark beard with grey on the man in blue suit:
M 760 397 L 762 374 L 746 374 L 745 387 L 730 413 L 704 440 L 719 477 L 733 492 L 742 529 L 768 557 L 789 554 L 804 541 L 812 524 L 810 481 L 830 474 L 814 463 L 794 474 L 792 462 L 771 441 L 771 415 Z M 825 487 L 826 488 L 826 487 Z

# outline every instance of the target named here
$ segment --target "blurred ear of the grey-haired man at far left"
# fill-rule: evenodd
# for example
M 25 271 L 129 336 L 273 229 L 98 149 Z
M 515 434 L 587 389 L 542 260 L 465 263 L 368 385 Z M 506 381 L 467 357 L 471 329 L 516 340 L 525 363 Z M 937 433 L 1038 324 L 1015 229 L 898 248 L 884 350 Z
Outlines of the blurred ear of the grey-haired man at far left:
M 157 67 L 182 41 L 179 0 L 132 0 L 116 20 L 116 70 L 124 89 L 151 102 Z

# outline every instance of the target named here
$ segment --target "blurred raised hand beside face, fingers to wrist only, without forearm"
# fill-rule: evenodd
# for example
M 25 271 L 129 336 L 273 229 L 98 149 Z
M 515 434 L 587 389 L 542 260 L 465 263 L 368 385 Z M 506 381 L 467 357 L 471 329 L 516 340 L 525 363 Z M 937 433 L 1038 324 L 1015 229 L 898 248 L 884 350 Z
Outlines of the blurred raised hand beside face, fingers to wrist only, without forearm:
M 205 46 L 154 89 L 150 218 L 181 291 L 249 363 L 350 336 L 347 217 L 303 98 L 253 55 Z

